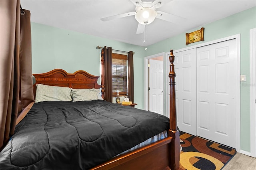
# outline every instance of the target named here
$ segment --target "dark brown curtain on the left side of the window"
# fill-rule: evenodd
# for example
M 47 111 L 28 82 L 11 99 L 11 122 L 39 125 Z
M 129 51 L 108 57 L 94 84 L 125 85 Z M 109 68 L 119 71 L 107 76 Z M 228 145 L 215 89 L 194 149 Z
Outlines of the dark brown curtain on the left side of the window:
M 104 83 L 105 83 L 105 92 L 104 100 L 112 103 L 112 48 L 104 47 Z

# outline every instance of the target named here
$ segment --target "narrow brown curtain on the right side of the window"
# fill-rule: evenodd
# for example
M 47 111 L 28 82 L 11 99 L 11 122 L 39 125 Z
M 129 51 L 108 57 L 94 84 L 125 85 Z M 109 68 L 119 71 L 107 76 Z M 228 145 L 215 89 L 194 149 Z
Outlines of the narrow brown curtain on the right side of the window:
M 133 52 L 128 54 L 128 98 L 134 102 Z

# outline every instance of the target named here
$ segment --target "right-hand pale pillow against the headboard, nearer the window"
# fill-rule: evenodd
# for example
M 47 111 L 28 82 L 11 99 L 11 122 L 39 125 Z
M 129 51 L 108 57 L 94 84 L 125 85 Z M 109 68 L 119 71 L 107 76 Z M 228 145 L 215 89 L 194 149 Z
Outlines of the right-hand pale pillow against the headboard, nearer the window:
M 103 100 L 100 89 L 72 89 L 73 101 Z

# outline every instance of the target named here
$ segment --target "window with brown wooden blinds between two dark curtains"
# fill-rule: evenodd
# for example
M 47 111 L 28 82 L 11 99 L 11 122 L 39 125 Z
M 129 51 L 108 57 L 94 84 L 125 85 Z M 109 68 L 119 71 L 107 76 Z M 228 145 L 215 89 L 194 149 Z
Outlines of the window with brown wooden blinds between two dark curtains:
M 128 56 L 124 54 L 112 53 L 112 91 L 113 96 L 117 96 L 117 90 L 120 96 L 127 95 L 128 83 Z

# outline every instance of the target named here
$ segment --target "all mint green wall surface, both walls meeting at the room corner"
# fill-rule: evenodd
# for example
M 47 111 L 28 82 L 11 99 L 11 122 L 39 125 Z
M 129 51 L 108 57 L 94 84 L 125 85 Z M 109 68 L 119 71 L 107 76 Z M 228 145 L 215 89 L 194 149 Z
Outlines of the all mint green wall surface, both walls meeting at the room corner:
M 60 68 L 69 73 L 86 70 L 92 75 L 100 75 L 100 49 L 107 46 L 122 51 L 134 51 L 134 102 L 138 109 L 144 109 L 144 57 L 170 49 L 178 50 L 212 40 L 240 34 L 240 73 L 246 75 L 241 83 L 241 136 L 240 149 L 250 152 L 250 47 L 249 31 L 256 28 L 256 7 L 234 14 L 222 20 L 187 30 L 193 32 L 205 28 L 204 42 L 185 45 L 182 33 L 164 41 L 144 47 L 114 40 L 90 36 L 70 30 L 32 23 L 32 72 L 44 73 Z M 170 28 L 170 31 L 171 28 Z

